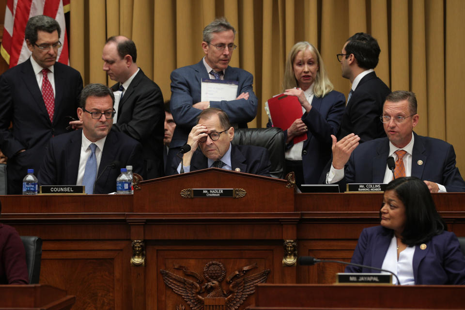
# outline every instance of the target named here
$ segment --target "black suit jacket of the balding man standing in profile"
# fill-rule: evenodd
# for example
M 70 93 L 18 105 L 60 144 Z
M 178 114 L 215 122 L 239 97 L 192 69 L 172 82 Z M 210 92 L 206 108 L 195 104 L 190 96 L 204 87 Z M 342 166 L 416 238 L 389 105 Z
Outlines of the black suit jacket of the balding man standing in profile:
M 117 91 L 118 87 L 119 83 L 113 85 L 111 90 Z M 113 128 L 142 144 L 149 179 L 164 175 L 165 109 L 163 95 L 158 85 L 147 78 L 142 70 L 136 74 L 120 100 L 117 123 L 113 125 Z

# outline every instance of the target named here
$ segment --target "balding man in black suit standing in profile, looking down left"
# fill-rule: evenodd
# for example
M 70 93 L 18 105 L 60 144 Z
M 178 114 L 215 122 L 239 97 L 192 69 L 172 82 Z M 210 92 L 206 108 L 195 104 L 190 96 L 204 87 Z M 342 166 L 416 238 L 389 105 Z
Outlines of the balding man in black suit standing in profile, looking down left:
M 118 98 L 113 128 L 142 144 L 147 178 L 164 176 L 165 112 L 160 88 L 138 67 L 136 44 L 122 35 L 107 40 L 102 60 L 103 70 L 118 82 L 111 87 Z

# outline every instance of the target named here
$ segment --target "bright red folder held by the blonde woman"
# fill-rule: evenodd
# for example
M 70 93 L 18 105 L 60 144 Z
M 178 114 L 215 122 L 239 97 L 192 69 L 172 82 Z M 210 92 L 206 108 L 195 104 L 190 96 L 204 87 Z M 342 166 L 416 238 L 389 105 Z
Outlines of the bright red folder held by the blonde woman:
M 268 99 L 268 109 L 270 109 L 271 122 L 273 127 L 279 127 L 286 130 L 291 127 L 292 123 L 302 117 L 302 106 L 296 96 L 279 94 Z M 296 136 L 293 139 L 294 144 L 307 139 L 307 134 Z

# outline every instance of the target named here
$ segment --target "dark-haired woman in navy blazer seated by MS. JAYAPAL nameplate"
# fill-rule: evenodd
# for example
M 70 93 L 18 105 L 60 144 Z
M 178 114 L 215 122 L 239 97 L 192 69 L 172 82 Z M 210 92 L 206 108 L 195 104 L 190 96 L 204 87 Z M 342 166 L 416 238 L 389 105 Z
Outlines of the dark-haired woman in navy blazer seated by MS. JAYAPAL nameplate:
M 360 234 L 352 263 L 390 270 L 403 285 L 465 284 L 459 241 L 447 231 L 423 181 L 403 177 L 389 182 L 380 217 L 381 226 Z M 345 272 L 377 271 L 347 266 Z

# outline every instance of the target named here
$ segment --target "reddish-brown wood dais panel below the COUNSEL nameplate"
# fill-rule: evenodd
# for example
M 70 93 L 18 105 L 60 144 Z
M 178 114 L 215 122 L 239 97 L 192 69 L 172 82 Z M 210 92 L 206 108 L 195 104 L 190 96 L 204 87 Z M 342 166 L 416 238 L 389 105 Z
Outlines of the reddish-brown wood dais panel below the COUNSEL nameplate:
M 76 295 L 73 309 L 130 309 L 130 258 L 127 241 L 45 241 L 40 282 Z

